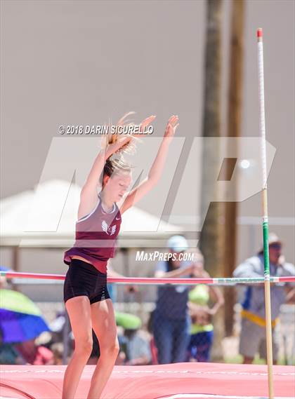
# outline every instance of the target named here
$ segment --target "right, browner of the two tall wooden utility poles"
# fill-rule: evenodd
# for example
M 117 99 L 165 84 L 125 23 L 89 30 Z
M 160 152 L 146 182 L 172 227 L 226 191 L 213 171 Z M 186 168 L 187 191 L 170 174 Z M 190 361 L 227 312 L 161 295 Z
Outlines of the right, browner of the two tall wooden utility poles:
M 242 82 L 244 55 L 244 0 L 232 0 L 230 32 L 230 79 L 228 93 L 228 137 L 240 137 L 242 119 Z M 238 149 L 237 149 L 238 151 Z M 228 170 L 228 177 L 232 170 Z M 237 187 L 233 187 L 236 191 Z M 232 276 L 236 266 L 237 203 L 225 203 L 225 245 L 224 274 Z M 226 287 L 225 295 L 225 334 L 232 335 L 233 306 L 235 291 Z

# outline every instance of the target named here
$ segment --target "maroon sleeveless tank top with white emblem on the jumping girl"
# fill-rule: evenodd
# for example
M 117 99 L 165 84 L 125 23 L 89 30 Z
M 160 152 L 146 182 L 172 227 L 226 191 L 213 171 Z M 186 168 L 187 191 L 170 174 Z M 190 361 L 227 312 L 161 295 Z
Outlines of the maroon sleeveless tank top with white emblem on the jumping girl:
M 96 208 L 76 222 L 75 242 L 65 251 L 63 261 L 70 264 L 73 255 L 88 260 L 101 273 L 107 273 L 107 261 L 114 257 L 114 245 L 119 234 L 122 217 L 114 203 L 111 212 L 105 212 L 98 195 Z

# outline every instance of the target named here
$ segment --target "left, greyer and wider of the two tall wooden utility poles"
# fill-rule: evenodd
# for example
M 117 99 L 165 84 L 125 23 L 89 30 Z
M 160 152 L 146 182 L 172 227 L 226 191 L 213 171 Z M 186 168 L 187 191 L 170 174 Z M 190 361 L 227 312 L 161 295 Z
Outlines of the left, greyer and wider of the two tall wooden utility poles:
M 204 116 L 203 137 L 221 136 L 221 15 L 222 0 L 207 0 L 206 12 L 206 54 L 204 69 Z M 223 272 L 223 242 L 221 231 L 221 203 L 212 202 L 216 198 L 216 176 L 219 173 L 218 144 L 203 142 L 201 217 L 206 216 L 200 234 L 199 247 L 204 255 L 205 268 L 211 276 L 221 276 Z M 214 346 L 211 356 L 222 358 L 221 340 L 224 337 L 223 311 L 214 316 Z

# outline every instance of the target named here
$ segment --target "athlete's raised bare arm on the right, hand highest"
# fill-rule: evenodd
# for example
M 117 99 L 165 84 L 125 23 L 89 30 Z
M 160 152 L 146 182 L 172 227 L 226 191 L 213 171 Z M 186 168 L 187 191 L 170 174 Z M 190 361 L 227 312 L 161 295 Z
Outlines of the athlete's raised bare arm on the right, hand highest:
M 173 115 L 167 123 L 162 143 L 160 144 L 157 156 L 155 158 L 155 161 L 152 163 L 152 167 L 150 168 L 147 177 L 145 178 L 145 180 L 143 180 L 143 182 L 138 184 L 135 189 L 131 190 L 128 196 L 126 196 L 126 199 L 120 209 L 121 213 L 125 212 L 132 205 L 140 201 L 140 199 L 143 198 L 143 196 L 145 196 L 148 191 L 155 187 L 157 182 L 159 182 L 159 178 L 162 175 L 164 163 L 168 154 L 169 144 L 171 143 L 177 126 L 178 116 Z

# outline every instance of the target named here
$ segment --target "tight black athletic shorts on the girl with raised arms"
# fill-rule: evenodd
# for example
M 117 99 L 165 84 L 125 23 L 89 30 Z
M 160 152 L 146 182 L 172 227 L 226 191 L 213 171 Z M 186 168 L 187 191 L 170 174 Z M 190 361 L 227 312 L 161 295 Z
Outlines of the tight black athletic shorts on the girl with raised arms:
M 107 274 L 101 273 L 92 264 L 81 259 L 72 259 L 65 275 L 63 300 L 86 295 L 90 303 L 109 299 Z

